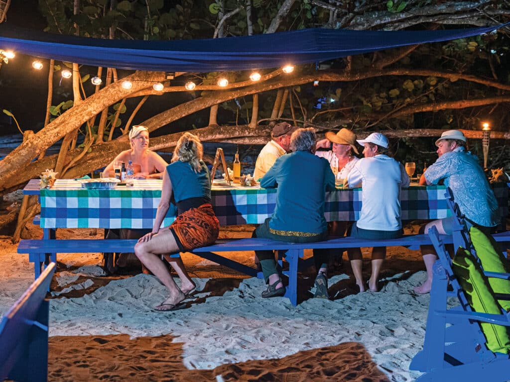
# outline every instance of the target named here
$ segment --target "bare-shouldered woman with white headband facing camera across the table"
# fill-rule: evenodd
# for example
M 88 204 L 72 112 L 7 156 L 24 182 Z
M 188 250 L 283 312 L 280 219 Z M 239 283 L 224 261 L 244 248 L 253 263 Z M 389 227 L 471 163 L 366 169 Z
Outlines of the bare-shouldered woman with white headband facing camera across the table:
M 129 132 L 130 150 L 122 151 L 106 167 L 105 176 L 115 176 L 113 163 L 131 160 L 137 179 L 161 179 L 168 163 L 154 151 L 149 150 L 149 131 L 145 126 L 135 125 Z

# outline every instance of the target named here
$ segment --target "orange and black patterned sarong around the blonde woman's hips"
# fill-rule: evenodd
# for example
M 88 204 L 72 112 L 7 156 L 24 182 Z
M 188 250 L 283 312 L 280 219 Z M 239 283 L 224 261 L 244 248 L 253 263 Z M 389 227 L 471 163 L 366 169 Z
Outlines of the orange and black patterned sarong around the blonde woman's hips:
M 218 238 L 220 223 L 209 203 L 191 208 L 175 218 L 170 225 L 185 251 L 213 244 Z

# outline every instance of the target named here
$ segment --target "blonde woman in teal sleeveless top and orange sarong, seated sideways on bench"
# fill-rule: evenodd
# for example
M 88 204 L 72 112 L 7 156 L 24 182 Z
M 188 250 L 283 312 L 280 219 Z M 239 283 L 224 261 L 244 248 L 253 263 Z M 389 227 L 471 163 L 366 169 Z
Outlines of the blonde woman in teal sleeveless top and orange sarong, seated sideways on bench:
M 152 232 L 135 245 L 140 261 L 170 292 L 163 304 L 156 307 L 159 311 L 174 310 L 196 287 L 181 258 L 166 257 L 181 279 L 181 288 L 177 287 L 160 255 L 188 252 L 212 244 L 218 237 L 219 222 L 211 206 L 211 178 L 202 155 L 198 137 L 184 133 L 163 175 L 161 201 Z M 170 227 L 160 229 L 172 197 L 177 205 L 177 217 Z

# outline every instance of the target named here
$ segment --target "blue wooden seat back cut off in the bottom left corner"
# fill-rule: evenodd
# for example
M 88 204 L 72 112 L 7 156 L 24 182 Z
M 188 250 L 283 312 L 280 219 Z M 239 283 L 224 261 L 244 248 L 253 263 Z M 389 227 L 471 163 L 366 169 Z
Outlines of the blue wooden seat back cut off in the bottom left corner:
M 49 264 L 0 321 L 0 380 L 47 380 L 49 303 L 44 297 L 55 266 Z

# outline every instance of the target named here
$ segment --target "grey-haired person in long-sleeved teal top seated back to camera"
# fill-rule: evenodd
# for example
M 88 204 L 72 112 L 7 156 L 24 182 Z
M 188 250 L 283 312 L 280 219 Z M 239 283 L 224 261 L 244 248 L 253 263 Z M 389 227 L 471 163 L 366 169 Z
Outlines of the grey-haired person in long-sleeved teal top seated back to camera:
M 297 129 L 290 139 L 291 154 L 286 154 L 260 181 L 261 187 L 276 188 L 276 207 L 271 217 L 253 233 L 278 241 L 314 242 L 327 237 L 324 219 L 326 191 L 335 189 L 335 176 L 329 162 L 315 156 L 316 135 L 313 128 Z M 314 258 L 318 256 L 314 254 Z M 283 296 L 282 283 L 272 251 L 257 251 L 264 278 L 269 284 L 262 297 Z M 316 266 L 325 268 L 327 259 L 316 259 Z M 327 279 L 317 269 L 316 287 L 327 293 Z

